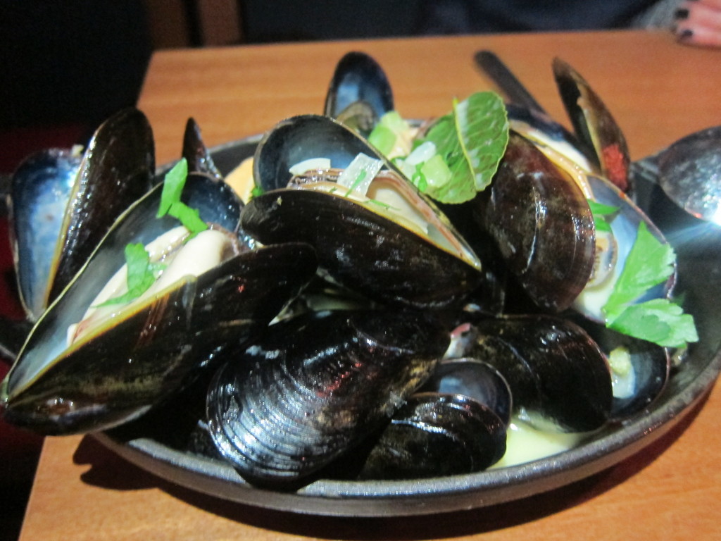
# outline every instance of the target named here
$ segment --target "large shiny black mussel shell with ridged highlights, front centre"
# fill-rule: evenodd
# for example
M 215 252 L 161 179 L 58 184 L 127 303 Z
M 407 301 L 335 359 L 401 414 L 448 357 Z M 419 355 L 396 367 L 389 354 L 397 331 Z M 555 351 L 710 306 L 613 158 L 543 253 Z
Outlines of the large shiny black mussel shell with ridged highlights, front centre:
M 218 371 L 208 428 L 247 480 L 302 482 L 386 423 L 447 346 L 448 333 L 419 312 L 276 323 Z

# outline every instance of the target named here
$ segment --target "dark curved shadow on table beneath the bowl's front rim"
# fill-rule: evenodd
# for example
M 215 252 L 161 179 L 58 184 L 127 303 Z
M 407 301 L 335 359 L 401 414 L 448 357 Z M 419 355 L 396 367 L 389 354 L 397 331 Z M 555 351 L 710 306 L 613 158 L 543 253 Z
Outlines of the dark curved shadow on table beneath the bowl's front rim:
M 160 488 L 174 498 L 226 519 L 293 535 L 342 540 L 423 540 L 459 537 L 533 522 L 577 506 L 624 483 L 650 465 L 684 433 L 693 423 L 706 400 L 707 397 L 668 434 L 661 436 L 618 465 L 596 475 L 518 501 L 469 511 L 413 516 L 411 520 L 408 517 L 342 518 L 292 514 L 258 509 L 242 503 L 205 496 L 157 478 L 125 462 L 92 438 L 81 441 L 74 455 L 74 462 L 92 466 L 82 475 L 84 483 L 120 491 Z

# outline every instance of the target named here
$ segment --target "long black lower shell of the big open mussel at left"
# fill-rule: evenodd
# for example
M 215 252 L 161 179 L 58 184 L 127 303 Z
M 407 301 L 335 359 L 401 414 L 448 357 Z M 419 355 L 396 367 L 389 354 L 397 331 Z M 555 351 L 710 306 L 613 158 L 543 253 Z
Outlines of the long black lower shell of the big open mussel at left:
M 61 297 L 38 322 L 4 382 L 4 418 L 49 435 L 131 421 L 193 382 L 206 365 L 216 366 L 226 349 L 265 330 L 314 272 L 307 245 L 244 252 L 56 355 L 47 339 L 64 339 L 56 323 L 68 309 Z M 43 355 L 52 362 L 17 388 L 30 377 L 27 363 Z

